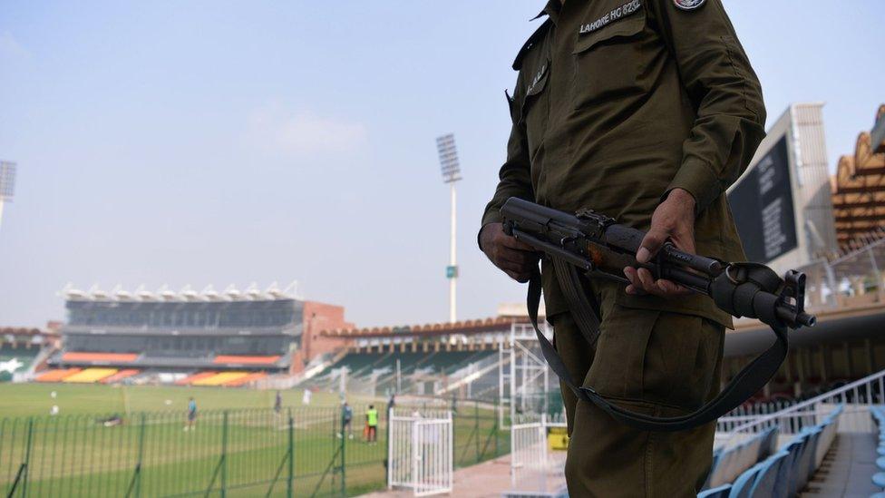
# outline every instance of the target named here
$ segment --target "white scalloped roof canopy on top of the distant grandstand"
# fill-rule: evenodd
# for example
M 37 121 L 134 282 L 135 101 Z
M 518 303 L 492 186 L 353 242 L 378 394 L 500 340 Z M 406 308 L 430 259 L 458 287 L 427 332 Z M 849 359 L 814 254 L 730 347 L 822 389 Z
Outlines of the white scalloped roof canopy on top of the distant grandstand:
M 69 301 L 144 301 L 144 302 L 211 302 L 211 301 L 276 301 L 276 300 L 300 300 L 297 293 L 297 282 L 292 282 L 287 288 L 280 289 L 274 282 L 266 289 L 261 290 L 258 285 L 251 284 L 248 288 L 240 290 L 229 285 L 223 291 L 215 290 L 211 285 L 206 286 L 199 292 L 190 288 L 190 285 L 178 291 L 162 286 L 155 291 L 147 290 L 139 286 L 134 291 L 128 291 L 120 286 L 110 292 L 104 291 L 97 285 L 89 290 L 82 290 L 68 284 L 62 289 L 63 298 Z

